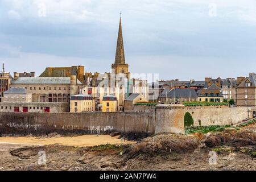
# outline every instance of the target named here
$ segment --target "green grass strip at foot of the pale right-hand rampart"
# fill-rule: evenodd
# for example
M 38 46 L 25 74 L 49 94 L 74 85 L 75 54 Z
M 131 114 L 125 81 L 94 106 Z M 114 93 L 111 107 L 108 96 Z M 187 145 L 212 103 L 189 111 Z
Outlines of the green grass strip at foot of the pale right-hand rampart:
M 230 125 L 226 126 L 219 126 L 219 125 L 214 125 L 214 126 L 191 126 L 188 127 L 185 130 L 185 134 L 194 134 L 194 133 L 201 133 L 201 134 L 207 134 L 209 132 L 216 132 L 216 131 L 224 131 L 225 128 L 231 127 Z M 236 128 L 238 130 L 238 128 Z

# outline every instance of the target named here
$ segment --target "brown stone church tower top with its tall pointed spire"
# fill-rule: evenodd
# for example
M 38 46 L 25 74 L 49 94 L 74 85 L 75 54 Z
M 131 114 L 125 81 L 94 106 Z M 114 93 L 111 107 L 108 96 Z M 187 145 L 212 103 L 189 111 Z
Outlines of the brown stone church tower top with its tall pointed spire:
M 129 65 L 125 63 L 121 17 L 117 38 L 117 51 L 115 52 L 115 63 L 112 64 L 112 72 L 115 74 L 124 73 L 127 75 L 127 78 L 129 78 Z

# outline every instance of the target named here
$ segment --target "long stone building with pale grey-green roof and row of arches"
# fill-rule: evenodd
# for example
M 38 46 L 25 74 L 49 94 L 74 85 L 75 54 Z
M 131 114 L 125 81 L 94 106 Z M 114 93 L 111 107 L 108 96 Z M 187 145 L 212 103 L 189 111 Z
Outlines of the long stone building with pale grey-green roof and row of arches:
M 18 77 L 10 87 L 25 88 L 32 94 L 32 102 L 66 102 L 80 94 L 82 83 L 71 77 Z

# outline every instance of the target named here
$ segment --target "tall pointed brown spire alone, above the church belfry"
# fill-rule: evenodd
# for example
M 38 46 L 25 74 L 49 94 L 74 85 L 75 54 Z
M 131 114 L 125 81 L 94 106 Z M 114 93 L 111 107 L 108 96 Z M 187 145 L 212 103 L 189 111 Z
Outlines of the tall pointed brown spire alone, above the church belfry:
M 125 49 L 123 47 L 121 17 L 120 17 L 119 31 L 118 31 L 118 38 L 117 38 L 117 51 L 115 52 L 115 64 L 125 64 Z

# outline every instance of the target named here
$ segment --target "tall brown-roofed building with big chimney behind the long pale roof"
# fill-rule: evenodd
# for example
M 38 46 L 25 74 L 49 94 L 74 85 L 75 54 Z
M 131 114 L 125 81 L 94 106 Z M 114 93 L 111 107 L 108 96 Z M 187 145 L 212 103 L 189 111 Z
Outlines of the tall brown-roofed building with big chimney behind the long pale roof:
M 39 77 L 71 77 L 76 75 L 77 79 L 85 84 L 84 66 L 72 67 L 48 67 Z

